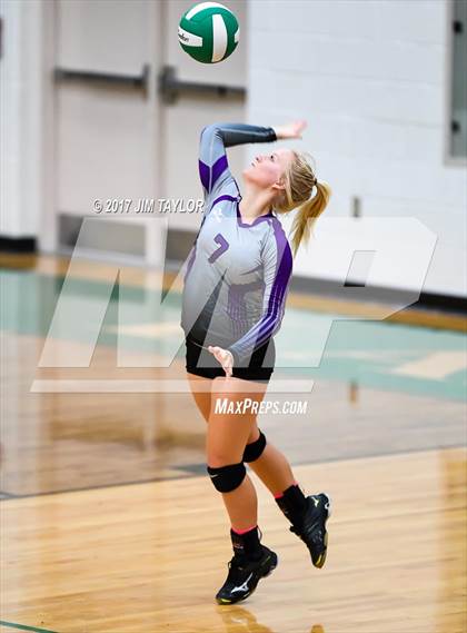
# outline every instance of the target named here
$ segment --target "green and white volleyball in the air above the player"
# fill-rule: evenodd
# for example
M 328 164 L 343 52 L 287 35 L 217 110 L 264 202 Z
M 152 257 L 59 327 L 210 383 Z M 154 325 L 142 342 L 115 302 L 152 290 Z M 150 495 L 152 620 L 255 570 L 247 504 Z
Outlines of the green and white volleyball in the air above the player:
M 231 55 L 238 44 L 237 18 L 219 2 L 200 2 L 181 17 L 178 41 L 185 52 L 202 63 L 217 63 Z

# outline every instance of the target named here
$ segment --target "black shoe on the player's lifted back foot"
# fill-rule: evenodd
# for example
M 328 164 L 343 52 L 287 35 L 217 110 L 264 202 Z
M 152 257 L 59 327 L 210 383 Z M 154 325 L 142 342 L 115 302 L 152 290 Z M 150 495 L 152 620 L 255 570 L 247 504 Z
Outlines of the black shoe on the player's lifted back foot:
M 325 493 L 307 497 L 307 510 L 300 521 L 290 527 L 306 544 L 315 567 L 322 567 L 328 548 L 326 522 L 331 515 L 331 501 Z

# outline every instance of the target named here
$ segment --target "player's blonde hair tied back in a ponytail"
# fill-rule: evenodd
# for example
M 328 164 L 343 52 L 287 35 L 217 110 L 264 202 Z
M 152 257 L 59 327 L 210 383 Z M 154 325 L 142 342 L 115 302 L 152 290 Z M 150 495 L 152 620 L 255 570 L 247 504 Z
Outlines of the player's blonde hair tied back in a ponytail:
M 291 246 L 294 256 L 301 243 L 307 244 L 311 229 L 326 209 L 331 196 L 331 188 L 327 182 L 318 181 L 310 162 L 314 160 L 308 152 L 291 150 L 294 158 L 285 172 L 285 191 L 274 208 L 279 214 L 288 214 L 298 208 L 291 227 Z M 310 198 L 312 189 L 315 196 Z

